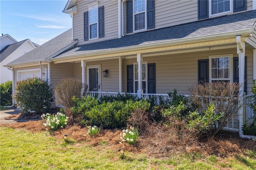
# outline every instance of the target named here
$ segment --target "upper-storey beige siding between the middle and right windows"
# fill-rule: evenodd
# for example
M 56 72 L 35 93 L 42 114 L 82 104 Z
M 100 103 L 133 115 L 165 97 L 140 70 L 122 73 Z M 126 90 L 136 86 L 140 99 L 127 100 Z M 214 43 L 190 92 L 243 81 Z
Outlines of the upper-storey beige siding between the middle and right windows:
M 196 0 L 155 0 L 155 28 L 197 20 Z

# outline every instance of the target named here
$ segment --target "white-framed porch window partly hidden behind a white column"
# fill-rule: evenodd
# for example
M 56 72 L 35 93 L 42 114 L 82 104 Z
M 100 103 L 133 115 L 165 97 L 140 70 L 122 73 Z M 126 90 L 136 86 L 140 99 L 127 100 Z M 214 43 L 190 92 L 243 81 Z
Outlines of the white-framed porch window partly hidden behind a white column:
M 138 83 L 138 63 L 133 64 L 134 68 L 134 93 L 137 93 L 139 89 L 139 83 Z M 147 62 L 142 62 L 142 90 L 143 93 L 147 92 Z

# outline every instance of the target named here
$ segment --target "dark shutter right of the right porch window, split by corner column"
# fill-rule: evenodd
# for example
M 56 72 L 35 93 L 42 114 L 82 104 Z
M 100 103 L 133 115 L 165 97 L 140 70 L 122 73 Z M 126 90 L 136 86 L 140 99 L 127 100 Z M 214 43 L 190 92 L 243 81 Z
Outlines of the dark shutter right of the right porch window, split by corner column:
M 239 60 L 233 58 L 233 82 L 239 83 Z M 244 93 L 247 94 L 247 57 L 244 57 Z

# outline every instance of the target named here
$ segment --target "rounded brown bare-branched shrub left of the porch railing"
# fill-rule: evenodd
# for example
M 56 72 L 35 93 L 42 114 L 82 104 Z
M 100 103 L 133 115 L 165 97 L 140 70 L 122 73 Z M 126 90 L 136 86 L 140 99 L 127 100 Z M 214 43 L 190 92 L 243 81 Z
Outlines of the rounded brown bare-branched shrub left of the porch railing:
M 60 80 L 60 83 L 55 87 L 56 102 L 66 108 L 74 106 L 72 97 L 82 99 L 82 96 L 88 95 L 88 85 L 82 81 L 68 77 Z

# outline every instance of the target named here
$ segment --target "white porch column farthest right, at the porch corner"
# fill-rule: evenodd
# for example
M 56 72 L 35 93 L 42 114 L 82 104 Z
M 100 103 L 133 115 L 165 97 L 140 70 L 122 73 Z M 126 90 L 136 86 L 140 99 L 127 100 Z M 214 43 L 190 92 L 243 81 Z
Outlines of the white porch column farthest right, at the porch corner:
M 237 43 L 237 53 L 238 53 L 238 69 L 239 69 L 239 84 L 240 84 L 240 97 L 244 98 L 244 53 L 245 53 L 245 46 L 244 42 L 241 42 L 241 37 L 236 36 L 236 43 Z M 244 100 L 243 100 L 244 101 Z M 244 103 L 242 103 L 242 107 L 238 111 L 239 114 L 239 136 L 244 134 L 242 130 L 242 126 L 244 124 Z

